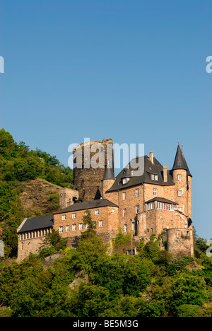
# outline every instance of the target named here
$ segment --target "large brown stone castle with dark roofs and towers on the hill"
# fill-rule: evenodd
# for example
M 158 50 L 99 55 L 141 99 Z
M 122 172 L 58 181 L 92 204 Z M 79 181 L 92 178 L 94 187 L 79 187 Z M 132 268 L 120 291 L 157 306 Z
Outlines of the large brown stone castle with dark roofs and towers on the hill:
M 80 145 L 82 166 L 73 168 L 73 190 L 60 190 L 60 210 L 24 219 L 18 227 L 18 260 L 23 260 L 30 252 L 36 253 L 52 228 L 68 239 L 67 245 L 75 248 L 81 233 L 86 231 L 83 216 L 87 209 L 96 224 L 98 236 L 105 243 L 111 243 L 120 231 L 131 235 L 128 254 L 136 253 L 136 243 L 141 238 L 148 242 L 152 234 L 164 233 L 161 249 L 167 243 L 167 250 L 174 257 L 191 256 L 194 253 L 192 175 L 179 144 L 171 170 L 149 153 L 135 160 L 142 161 L 141 175 L 134 175 L 129 163 L 114 177 L 113 153 L 107 155 L 107 146 L 112 144 L 112 139 L 100 142 L 99 152 L 104 156 L 102 167 L 88 166 L 90 160 L 86 159 L 85 151 L 88 149 L 93 155 L 95 143 Z

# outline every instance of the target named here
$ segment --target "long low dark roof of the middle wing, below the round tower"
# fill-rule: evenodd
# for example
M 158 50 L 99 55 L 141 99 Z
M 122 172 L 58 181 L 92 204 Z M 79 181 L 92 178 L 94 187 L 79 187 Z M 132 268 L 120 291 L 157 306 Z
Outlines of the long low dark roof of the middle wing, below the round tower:
M 64 214 L 64 213 L 68 213 L 69 211 L 78 211 L 83 209 L 93 209 L 93 208 L 100 208 L 107 206 L 118 207 L 117 204 L 114 204 L 113 202 L 107 199 L 98 199 L 98 200 L 78 202 L 76 204 L 72 204 L 71 206 L 66 207 L 65 209 L 61 209 L 60 211 L 57 211 L 54 214 Z

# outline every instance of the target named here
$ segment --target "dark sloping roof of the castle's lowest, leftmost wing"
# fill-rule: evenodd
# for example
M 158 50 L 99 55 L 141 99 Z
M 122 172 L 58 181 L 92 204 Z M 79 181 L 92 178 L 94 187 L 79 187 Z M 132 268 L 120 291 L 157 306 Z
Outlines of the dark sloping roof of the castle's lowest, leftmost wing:
M 26 219 L 23 226 L 20 224 L 20 230 L 18 233 L 25 231 L 33 231 L 40 228 L 51 228 L 54 224 L 53 214 L 34 217 L 33 219 Z

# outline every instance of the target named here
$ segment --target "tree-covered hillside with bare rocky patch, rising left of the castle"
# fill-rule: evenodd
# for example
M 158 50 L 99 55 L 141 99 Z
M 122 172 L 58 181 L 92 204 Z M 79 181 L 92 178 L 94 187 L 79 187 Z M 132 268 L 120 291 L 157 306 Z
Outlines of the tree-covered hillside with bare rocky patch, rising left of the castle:
M 59 209 L 58 191 L 73 187 L 73 171 L 56 156 L 30 150 L 0 129 L 0 240 L 6 257 L 16 257 L 16 229 L 25 217 Z

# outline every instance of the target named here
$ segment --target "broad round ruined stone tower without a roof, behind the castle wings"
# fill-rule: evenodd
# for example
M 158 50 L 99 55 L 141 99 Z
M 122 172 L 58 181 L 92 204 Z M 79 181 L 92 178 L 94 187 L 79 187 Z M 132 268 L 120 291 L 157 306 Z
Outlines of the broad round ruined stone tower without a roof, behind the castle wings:
M 102 197 L 102 178 L 108 162 L 114 170 L 112 147 L 112 139 L 103 139 L 88 141 L 77 146 L 73 151 L 73 188 L 78 190 L 79 201 L 85 202 Z M 77 158 L 81 162 L 78 163 Z

